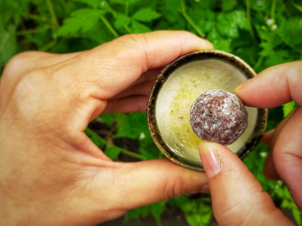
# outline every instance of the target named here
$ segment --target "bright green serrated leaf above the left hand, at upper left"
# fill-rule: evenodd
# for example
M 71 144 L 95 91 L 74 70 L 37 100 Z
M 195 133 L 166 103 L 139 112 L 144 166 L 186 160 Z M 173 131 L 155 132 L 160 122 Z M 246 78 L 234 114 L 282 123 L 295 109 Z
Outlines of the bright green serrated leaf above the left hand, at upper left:
M 64 20 L 63 26 L 57 30 L 56 36 L 86 33 L 95 26 L 99 18 L 105 13 L 106 11 L 91 8 L 74 11 L 71 17 Z

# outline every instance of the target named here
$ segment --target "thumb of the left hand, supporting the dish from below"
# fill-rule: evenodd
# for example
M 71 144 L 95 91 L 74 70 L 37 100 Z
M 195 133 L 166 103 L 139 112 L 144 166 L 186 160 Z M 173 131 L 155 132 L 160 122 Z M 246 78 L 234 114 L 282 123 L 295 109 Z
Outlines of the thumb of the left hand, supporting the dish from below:
M 126 209 L 206 190 L 204 173 L 176 165 L 168 159 L 128 163 L 116 173 Z

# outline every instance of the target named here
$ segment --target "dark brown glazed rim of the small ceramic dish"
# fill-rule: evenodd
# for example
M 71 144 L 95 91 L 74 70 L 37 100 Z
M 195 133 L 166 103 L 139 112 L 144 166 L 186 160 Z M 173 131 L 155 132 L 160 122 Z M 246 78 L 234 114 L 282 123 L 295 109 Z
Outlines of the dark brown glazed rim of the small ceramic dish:
M 167 156 L 169 159 L 171 159 L 173 162 L 177 163 L 178 165 L 182 165 L 186 168 L 190 168 L 198 171 L 204 171 L 204 168 L 196 162 L 193 162 L 191 160 L 176 155 L 162 140 L 161 134 L 159 132 L 159 128 L 156 123 L 155 108 L 156 108 L 156 96 L 159 93 L 163 83 L 165 83 L 165 80 L 169 77 L 169 75 L 177 68 L 189 62 L 204 60 L 204 59 L 217 59 L 229 63 L 234 67 L 236 67 L 239 71 L 241 71 L 246 76 L 247 79 L 250 79 L 256 75 L 256 73 L 248 64 L 246 64 L 239 57 L 232 55 L 230 53 L 226 53 L 219 50 L 200 50 L 200 51 L 190 52 L 168 64 L 159 73 L 158 77 L 153 83 L 152 89 L 149 94 L 149 99 L 147 102 L 147 122 L 149 126 L 149 131 L 157 147 L 163 152 L 165 156 Z M 267 109 L 257 108 L 257 110 L 258 110 L 257 120 L 252 135 L 246 141 L 245 146 L 243 146 L 238 152 L 236 152 L 236 155 L 240 159 L 244 159 L 244 157 L 248 155 L 248 153 L 251 152 L 257 146 L 265 131 L 266 120 L 267 120 Z

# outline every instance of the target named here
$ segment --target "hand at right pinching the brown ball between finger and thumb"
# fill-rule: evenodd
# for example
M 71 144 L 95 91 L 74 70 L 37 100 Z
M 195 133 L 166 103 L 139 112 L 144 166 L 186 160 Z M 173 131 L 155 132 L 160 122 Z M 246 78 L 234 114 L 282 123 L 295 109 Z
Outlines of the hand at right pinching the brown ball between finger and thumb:
M 266 177 L 282 179 L 302 209 L 302 61 L 262 71 L 233 92 L 250 107 L 273 108 L 294 100 L 299 106 L 264 136 L 271 153 Z M 212 205 L 220 225 L 294 225 L 274 205 L 243 162 L 225 146 L 202 142 L 201 161 L 209 177 Z

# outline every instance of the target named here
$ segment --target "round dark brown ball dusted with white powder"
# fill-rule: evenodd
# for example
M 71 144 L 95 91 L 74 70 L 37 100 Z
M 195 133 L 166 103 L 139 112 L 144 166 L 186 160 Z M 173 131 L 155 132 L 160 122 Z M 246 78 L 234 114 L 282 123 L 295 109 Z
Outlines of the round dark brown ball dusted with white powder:
M 194 101 L 190 124 L 200 139 L 229 145 L 246 130 L 247 112 L 235 94 L 213 89 Z

